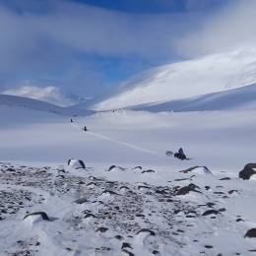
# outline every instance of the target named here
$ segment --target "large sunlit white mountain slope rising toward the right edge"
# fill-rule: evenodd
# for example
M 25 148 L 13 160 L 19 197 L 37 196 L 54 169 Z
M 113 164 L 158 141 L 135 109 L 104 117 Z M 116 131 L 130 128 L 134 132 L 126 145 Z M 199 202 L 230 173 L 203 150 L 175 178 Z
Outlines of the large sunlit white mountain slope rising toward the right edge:
M 147 70 L 77 106 L 95 110 L 203 96 L 256 83 L 256 48 L 241 48 Z

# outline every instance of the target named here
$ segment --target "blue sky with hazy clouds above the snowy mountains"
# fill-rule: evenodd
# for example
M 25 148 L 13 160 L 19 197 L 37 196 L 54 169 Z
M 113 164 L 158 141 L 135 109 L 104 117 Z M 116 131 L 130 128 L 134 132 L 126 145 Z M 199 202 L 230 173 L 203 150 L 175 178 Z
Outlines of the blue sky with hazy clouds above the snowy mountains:
M 0 0 L 0 92 L 97 96 L 137 73 L 255 44 L 254 0 Z

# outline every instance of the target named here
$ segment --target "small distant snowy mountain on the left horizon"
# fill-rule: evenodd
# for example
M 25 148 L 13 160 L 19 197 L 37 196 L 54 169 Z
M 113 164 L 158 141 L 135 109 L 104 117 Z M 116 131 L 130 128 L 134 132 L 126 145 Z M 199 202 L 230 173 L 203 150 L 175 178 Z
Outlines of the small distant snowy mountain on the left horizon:
M 31 97 L 59 106 L 70 106 L 86 100 L 86 98 L 82 96 L 75 96 L 67 90 L 56 87 L 39 88 L 26 86 L 17 90 L 7 90 L 0 94 Z

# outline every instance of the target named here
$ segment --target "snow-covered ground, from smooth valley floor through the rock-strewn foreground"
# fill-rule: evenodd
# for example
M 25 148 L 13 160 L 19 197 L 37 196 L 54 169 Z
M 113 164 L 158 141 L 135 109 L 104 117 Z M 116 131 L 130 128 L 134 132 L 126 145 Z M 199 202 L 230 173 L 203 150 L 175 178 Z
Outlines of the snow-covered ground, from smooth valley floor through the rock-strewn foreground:
M 0 101 L 0 117 L 1 255 L 255 254 L 256 179 L 238 178 L 255 162 L 255 110 L 69 116 Z M 165 156 L 179 147 L 191 160 Z M 49 221 L 24 220 L 36 212 Z

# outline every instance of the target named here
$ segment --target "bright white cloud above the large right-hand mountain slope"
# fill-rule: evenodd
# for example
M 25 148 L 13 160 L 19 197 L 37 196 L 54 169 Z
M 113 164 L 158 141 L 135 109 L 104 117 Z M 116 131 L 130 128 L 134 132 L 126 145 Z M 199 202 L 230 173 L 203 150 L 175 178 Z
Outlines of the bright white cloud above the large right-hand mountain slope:
M 256 45 L 256 1 L 230 2 L 221 12 L 202 21 L 202 28 L 176 40 L 185 57 L 197 57 L 232 47 Z

